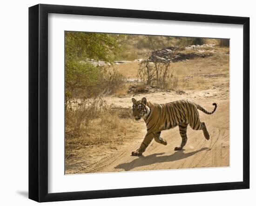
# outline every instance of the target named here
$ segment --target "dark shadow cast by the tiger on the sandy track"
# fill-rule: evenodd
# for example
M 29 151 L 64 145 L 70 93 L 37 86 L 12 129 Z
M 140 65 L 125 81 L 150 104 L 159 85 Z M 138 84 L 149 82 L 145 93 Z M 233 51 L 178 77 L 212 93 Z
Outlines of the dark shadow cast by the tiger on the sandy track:
M 153 165 L 155 163 L 162 163 L 162 162 L 172 162 L 180 159 L 185 159 L 187 157 L 195 155 L 196 153 L 200 153 L 208 149 L 209 149 L 208 147 L 203 147 L 200 150 L 196 150 L 190 153 L 183 153 L 184 150 L 181 150 L 171 155 L 159 156 L 159 155 L 163 155 L 164 153 L 155 153 L 148 156 L 141 156 L 137 159 L 132 160 L 131 162 L 122 163 L 118 166 L 115 166 L 115 169 L 124 169 L 125 171 L 130 171 L 131 169 L 134 169 L 135 167 L 139 167 L 139 166 L 148 166 L 148 165 Z

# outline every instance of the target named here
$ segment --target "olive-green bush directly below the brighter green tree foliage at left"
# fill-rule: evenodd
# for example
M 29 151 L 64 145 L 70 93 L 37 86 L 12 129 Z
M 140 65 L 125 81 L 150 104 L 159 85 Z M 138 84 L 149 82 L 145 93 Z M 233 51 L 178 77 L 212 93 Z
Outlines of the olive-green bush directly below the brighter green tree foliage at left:
M 66 73 L 66 76 L 70 76 L 69 79 L 72 79 L 66 81 L 66 109 L 72 104 L 77 103 L 77 99 L 88 99 L 112 94 L 124 87 L 123 76 L 111 66 L 95 67 L 89 63 L 79 64 L 77 62 L 73 66 L 78 70 L 84 69 L 86 72 Z

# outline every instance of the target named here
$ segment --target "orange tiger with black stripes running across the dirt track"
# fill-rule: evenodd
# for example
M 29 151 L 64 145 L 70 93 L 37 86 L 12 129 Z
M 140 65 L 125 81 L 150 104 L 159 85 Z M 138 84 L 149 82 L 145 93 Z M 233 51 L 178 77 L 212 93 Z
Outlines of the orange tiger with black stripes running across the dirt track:
M 212 114 L 216 111 L 217 104 L 212 112 L 206 111 L 202 106 L 190 100 L 177 100 L 166 104 L 155 104 L 147 101 L 145 97 L 141 100 L 132 98 L 132 115 L 135 120 L 144 119 L 147 126 L 147 133 L 141 146 L 132 152 L 132 156 L 141 156 L 145 152 L 150 142 L 154 139 L 156 142 L 167 145 L 167 141 L 160 137 L 161 131 L 179 126 L 182 138 L 181 145 L 174 148 L 175 151 L 182 150 L 186 145 L 188 125 L 194 130 L 202 130 L 206 140 L 210 139 L 209 133 L 204 122 L 199 119 L 198 110 L 206 114 Z

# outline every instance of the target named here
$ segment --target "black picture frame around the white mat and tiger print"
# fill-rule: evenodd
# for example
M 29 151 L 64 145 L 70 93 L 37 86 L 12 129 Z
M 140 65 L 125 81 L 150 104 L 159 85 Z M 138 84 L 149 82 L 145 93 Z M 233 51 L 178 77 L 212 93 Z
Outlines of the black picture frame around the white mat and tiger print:
M 243 25 L 243 181 L 48 193 L 48 13 Z M 45 4 L 29 7 L 29 199 L 48 202 L 247 188 L 249 188 L 248 17 Z

